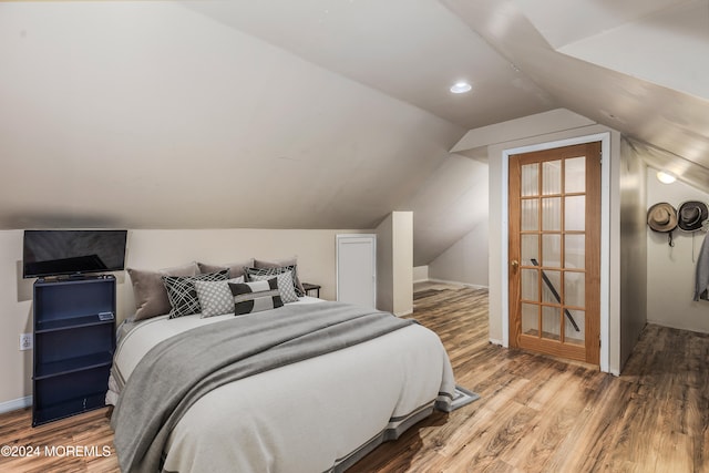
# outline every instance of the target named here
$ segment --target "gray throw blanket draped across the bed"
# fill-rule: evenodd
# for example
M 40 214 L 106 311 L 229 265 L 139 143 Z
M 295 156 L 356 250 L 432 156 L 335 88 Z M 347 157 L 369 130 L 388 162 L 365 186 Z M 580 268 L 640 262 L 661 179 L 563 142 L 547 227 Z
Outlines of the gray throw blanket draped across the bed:
M 137 364 L 113 411 L 121 470 L 154 473 L 173 426 L 223 384 L 414 323 L 339 302 L 284 306 L 172 337 Z

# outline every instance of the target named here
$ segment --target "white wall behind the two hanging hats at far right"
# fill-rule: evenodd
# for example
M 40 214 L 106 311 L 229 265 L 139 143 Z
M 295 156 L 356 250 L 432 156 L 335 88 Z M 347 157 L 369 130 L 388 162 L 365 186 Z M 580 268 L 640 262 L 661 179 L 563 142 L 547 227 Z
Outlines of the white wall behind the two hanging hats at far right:
M 647 208 L 667 202 L 676 209 L 682 202 L 709 203 L 709 194 L 684 184 L 661 184 L 657 169 L 647 168 Z M 647 238 L 647 321 L 709 333 L 709 302 L 692 301 L 696 257 L 705 233 L 674 232 L 675 247 L 667 244 L 667 234 L 646 226 Z

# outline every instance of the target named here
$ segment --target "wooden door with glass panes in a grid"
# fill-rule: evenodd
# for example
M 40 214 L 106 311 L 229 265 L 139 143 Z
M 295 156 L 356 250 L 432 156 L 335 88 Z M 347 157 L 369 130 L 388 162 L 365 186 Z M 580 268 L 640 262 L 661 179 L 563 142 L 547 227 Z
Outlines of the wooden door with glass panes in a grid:
M 512 155 L 510 346 L 599 363 L 600 143 Z

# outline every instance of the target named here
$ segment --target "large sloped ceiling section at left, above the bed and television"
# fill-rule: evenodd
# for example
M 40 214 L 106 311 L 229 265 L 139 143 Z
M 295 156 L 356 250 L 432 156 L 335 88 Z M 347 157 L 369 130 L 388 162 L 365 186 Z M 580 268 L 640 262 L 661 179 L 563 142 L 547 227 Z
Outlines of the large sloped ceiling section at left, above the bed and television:
M 464 133 L 178 2 L 0 34 L 2 228 L 372 228 Z

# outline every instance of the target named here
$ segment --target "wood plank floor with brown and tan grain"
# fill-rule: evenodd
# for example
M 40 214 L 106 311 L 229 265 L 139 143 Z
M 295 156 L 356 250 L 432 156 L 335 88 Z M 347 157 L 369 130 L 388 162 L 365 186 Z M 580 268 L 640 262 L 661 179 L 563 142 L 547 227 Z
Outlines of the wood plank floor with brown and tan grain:
M 485 290 L 424 289 L 413 317 L 440 335 L 456 382 L 482 398 L 433 414 L 350 472 L 709 473 L 709 336 L 648 326 L 616 378 L 490 345 Z M 105 409 L 35 429 L 29 410 L 3 414 L 0 445 L 42 454 L 0 455 L 0 472 L 117 472 L 112 435 Z M 45 456 L 48 445 L 111 450 Z

